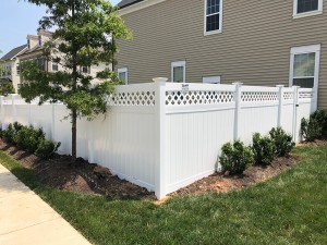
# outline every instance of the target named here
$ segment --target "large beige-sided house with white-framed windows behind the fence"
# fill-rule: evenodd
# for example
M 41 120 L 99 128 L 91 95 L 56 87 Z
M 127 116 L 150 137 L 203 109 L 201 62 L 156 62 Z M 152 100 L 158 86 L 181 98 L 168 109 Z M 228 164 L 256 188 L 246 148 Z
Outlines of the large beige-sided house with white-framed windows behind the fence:
M 327 0 L 123 0 L 126 83 L 284 84 L 318 88 L 327 108 Z M 326 50 L 325 50 L 326 49 Z

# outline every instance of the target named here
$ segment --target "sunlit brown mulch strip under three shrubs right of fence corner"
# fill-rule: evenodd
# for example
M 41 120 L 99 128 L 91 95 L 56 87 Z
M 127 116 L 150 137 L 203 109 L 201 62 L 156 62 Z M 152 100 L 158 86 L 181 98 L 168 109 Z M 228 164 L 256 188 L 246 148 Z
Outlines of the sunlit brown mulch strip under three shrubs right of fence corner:
M 291 168 L 299 162 L 299 158 L 290 156 L 289 158 L 277 158 L 270 166 L 251 166 L 240 175 L 228 175 L 223 173 L 215 173 L 208 177 L 202 179 L 178 192 L 171 194 L 190 195 L 203 194 L 209 192 L 226 193 L 229 191 L 239 191 L 243 187 L 254 185 L 267 179 L 276 176 L 282 171 Z

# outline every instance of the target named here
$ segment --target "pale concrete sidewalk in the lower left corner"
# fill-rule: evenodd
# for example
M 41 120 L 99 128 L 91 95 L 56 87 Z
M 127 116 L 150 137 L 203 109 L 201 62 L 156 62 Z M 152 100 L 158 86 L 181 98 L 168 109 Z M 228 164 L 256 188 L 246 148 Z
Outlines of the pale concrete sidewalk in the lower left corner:
M 89 245 L 71 224 L 1 164 L 0 244 Z

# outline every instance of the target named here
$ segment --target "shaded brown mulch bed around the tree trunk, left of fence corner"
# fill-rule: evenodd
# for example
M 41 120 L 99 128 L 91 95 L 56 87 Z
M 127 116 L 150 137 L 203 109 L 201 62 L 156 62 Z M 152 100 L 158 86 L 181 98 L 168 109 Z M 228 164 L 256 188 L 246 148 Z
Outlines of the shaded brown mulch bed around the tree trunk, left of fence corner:
M 90 195 L 104 195 L 112 199 L 155 199 L 148 192 L 128 181 L 112 175 L 107 168 L 77 159 L 72 164 L 70 156 L 56 155 L 53 159 L 40 160 L 36 156 L 0 140 L 0 149 L 19 160 L 24 167 L 35 171 L 37 180 L 59 189 Z

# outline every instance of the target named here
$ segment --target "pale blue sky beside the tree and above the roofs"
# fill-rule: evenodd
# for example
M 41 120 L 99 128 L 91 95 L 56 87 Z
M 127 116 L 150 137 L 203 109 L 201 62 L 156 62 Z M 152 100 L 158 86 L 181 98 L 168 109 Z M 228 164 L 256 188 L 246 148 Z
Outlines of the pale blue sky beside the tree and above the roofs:
M 117 4 L 120 0 L 110 0 Z M 46 14 L 46 8 L 24 0 L 1 0 L 0 7 L 0 58 L 11 49 L 26 44 L 27 34 L 36 34 L 38 21 Z

